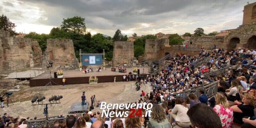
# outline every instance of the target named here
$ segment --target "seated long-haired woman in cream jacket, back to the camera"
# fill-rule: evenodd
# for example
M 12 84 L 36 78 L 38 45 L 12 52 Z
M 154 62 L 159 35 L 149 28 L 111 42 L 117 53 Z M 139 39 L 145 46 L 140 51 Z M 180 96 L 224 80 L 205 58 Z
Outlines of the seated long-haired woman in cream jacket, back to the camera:
M 184 102 L 182 97 L 178 96 L 175 100 L 175 106 L 170 112 L 170 124 L 175 120 L 175 125 L 179 125 L 184 128 L 189 127 L 191 123 L 187 112 L 187 104 Z

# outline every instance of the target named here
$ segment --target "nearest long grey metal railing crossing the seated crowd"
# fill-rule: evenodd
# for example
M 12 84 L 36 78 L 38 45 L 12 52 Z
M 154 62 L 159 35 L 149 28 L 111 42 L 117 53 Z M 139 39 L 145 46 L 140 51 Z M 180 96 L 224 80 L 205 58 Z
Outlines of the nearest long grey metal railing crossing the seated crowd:
M 180 93 L 175 93 L 175 94 L 170 94 L 167 96 L 167 99 L 171 99 L 171 97 L 177 97 L 177 96 L 181 96 L 181 97 L 186 97 L 189 94 L 195 94 L 197 97 L 199 97 L 199 89 L 203 89 L 204 90 L 204 94 L 210 98 L 212 96 L 214 96 L 217 91 L 218 91 L 218 82 L 212 82 L 212 83 L 208 83 L 208 84 L 203 84 L 200 86 L 196 86 L 196 87 L 192 87 L 192 88 L 188 88 L 188 89 L 183 89 L 182 92 Z

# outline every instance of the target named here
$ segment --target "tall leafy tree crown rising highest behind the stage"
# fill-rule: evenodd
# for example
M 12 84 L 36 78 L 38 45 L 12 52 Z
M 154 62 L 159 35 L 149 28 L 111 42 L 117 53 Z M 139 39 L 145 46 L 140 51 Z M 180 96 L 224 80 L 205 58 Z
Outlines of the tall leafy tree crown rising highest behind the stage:
M 61 29 L 67 32 L 73 32 L 76 34 L 84 34 L 86 32 L 86 27 L 84 23 L 84 18 L 75 16 L 73 18 L 67 18 L 62 21 Z

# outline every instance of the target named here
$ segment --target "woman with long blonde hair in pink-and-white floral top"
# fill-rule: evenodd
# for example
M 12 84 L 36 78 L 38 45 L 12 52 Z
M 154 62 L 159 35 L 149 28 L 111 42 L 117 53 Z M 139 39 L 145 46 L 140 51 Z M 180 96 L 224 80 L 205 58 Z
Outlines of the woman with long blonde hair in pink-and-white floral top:
M 215 95 L 216 105 L 213 110 L 220 117 L 220 121 L 223 128 L 231 128 L 233 122 L 233 110 L 230 109 L 230 105 L 226 96 L 221 93 Z

